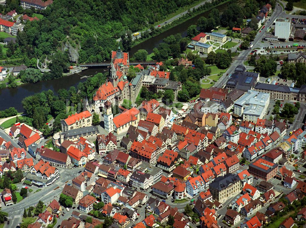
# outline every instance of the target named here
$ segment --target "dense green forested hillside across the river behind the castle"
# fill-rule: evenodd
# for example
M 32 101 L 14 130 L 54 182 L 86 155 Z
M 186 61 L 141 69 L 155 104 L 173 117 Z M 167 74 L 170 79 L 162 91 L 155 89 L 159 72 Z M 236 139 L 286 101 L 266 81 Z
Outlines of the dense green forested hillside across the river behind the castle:
M 56 0 L 41 13 L 39 22 L 30 22 L 17 36 L 22 52 L 28 57 L 42 57 L 64 50 L 69 41 L 78 62 L 109 59 L 117 48 L 116 39 L 126 32 L 149 28 L 169 13 L 195 0 Z

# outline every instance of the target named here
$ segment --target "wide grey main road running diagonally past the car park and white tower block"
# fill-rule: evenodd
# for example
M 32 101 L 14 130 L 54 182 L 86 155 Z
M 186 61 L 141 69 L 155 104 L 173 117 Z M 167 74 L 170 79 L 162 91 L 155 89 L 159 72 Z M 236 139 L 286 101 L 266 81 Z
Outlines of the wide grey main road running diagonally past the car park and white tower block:
M 273 24 L 274 20 L 276 18 L 278 18 L 280 15 L 282 15 L 282 13 L 283 13 L 282 6 L 277 5 L 274 9 L 274 12 L 273 12 L 272 16 L 270 17 L 270 21 L 268 21 L 265 25 L 266 27 L 263 28 L 263 30 L 261 32 L 257 33 L 258 34 L 257 37 L 255 37 L 254 41 L 252 41 L 252 44 L 253 44 L 254 48 L 256 48 L 258 46 L 258 44 L 260 43 L 260 41 L 263 39 L 263 37 L 265 35 L 265 32 L 267 31 L 267 28 L 269 28 Z M 227 69 L 227 71 L 221 76 L 221 78 L 218 80 L 218 82 L 215 83 L 214 87 L 219 87 L 219 88 L 223 87 L 228 80 L 228 76 L 226 76 L 226 75 L 233 73 L 235 68 L 238 65 L 243 64 L 243 62 L 248 57 L 250 52 L 251 52 L 251 49 L 247 49 L 247 50 L 242 51 L 239 54 L 239 58 L 241 58 L 241 59 L 233 61 L 233 63 L 230 65 L 230 67 Z

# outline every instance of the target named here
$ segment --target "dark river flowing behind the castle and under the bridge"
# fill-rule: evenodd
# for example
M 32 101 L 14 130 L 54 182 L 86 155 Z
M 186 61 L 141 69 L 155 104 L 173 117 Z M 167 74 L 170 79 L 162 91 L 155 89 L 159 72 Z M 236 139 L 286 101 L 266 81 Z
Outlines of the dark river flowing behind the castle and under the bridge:
M 220 12 L 223 9 L 226 9 L 226 6 L 229 2 L 224 3 L 218 7 L 216 7 Z M 145 49 L 148 53 L 153 51 L 153 48 L 157 47 L 164 38 L 170 36 L 172 34 L 181 33 L 183 37 L 187 35 L 187 28 L 192 25 L 196 24 L 197 20 L 200 17 L 207 17 L 209 11 L 201 13 L 182 24 L 179 24 L 155 37 L 152 37 L 134 47 L 129 51 L 129 55 L 132 56 L 137 50 Z M 44 90 L 53 90 L 56 94 L 59 89 L 69 89 L 70 86 L 76 86 L 79 82 L 85 81 L 85 79 L 80 79 L 80 77 L 84 75 L 93 75 L 98 72 L 105 72 L 106 68 L 90 68 L 82 71 L 78 74 L 73 74 L 69 76 L 65 76 L 59 79 L 49 80 L 49 81 L 40 81 L 35 84 L 23 84 L 18 86 L 17 88 L 4 88 L 0 89 L 0 110 L 4 110 L 9 107 L 15 107 L 18 112 L 23 112 L 24 109 L 21 105 L 21 101 L 24 97 L 33 95 L 35 93 L 39 93 Z

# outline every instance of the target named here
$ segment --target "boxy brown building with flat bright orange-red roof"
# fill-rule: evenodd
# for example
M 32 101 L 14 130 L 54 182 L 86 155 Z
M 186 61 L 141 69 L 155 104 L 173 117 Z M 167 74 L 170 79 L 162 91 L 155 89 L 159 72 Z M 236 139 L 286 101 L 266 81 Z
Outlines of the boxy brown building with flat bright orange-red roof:
M 255 177 L 261 178 L 265 181 L 270 180 L 277 174 L 278 165 L 269 162 L 263 158 L 258 158 L 253 163 L 249 164 L 249 173 Z

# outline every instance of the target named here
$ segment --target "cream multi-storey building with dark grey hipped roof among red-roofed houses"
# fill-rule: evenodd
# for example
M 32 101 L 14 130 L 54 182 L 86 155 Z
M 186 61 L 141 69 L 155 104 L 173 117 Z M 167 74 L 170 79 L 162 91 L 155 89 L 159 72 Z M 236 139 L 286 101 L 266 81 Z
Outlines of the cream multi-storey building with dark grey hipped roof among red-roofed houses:
M 240 178 L 234 174 L 219 176 L 209 185 L 213 199 L 219 202 L 240 191 Z

